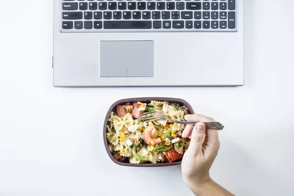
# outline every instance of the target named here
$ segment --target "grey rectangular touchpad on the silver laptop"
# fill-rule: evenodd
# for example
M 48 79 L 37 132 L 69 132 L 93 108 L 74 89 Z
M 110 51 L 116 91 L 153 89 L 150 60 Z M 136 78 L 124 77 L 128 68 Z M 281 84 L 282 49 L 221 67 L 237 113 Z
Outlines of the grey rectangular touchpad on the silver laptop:
M 153 76 L 153 41 L 100 42 L 100 77 Z

